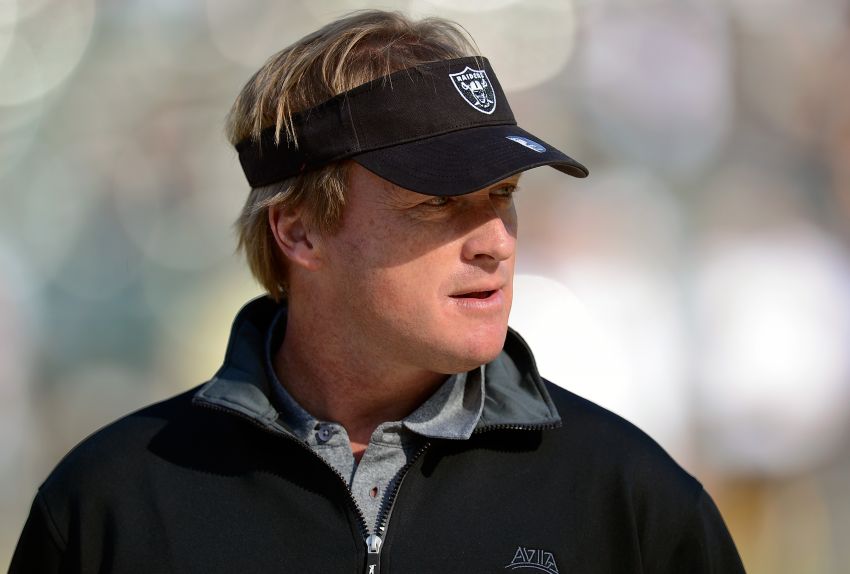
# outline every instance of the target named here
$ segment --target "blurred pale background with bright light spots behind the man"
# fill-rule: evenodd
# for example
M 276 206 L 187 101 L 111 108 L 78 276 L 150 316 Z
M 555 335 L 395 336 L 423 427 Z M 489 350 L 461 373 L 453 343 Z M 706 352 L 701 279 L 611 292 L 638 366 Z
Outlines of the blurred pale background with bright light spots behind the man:
M 749 572 L 850 573 L 846 0 L 0 0 L 0 565 L 68 449 L 219 366 L 260 293 L 224 116 L 365 7 L 460 22 L 590 167 L 517 199 L 544 376 L 697 476 Z

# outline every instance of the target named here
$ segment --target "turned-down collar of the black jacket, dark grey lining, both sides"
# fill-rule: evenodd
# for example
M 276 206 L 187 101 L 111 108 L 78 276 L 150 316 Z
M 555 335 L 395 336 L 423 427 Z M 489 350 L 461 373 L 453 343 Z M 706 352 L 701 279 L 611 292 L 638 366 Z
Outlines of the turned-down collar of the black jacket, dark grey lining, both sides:
M 225 409 L 262 426 L 288 432 L 279 421 L 265 368 L 266 334 L 279 304 L 258 297 L 233 321 L 224 363 L 195 393 L 192 402 Z M 547 427 L 561 422 L 534 356 L 512 329 L 502 353 L 485 365 L 484 408 L 476 430 L 489 427 Z

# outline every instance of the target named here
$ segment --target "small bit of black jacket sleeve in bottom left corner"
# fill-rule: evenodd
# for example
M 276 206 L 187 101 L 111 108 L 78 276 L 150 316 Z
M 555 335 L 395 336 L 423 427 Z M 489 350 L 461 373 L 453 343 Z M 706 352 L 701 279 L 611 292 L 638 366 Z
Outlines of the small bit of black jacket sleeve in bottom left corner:
M 44 498 L 38 493 L 12 555 L 9 574 L 67 572 L 62 567 L 64 554 L 65 544 L 50 517 Z

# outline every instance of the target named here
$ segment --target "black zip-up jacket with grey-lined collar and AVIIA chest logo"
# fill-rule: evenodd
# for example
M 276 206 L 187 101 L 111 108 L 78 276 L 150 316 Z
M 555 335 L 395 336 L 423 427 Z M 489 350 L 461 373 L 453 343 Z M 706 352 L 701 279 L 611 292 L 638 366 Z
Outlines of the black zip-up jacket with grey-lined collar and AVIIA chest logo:
M 743 572 L 699 482 L 630 423 L 543 381 L 514 333 L 487 367 L 476 432 L 424 448 L 369 555 L 340 476 L 266 398 L 273 311 L 243 309 L 205 386 L 68 454 L 10 572 Z

